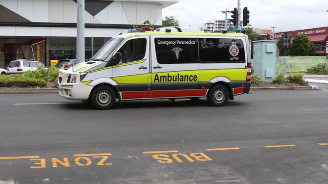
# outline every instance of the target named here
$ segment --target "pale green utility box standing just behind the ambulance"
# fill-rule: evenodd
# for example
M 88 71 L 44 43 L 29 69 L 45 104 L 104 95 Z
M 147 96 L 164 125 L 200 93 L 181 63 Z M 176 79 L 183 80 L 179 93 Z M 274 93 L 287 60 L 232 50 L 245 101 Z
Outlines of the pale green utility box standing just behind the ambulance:
M 253 73 L 270 82 L 276 76 L 277 41 L 253 41 Z

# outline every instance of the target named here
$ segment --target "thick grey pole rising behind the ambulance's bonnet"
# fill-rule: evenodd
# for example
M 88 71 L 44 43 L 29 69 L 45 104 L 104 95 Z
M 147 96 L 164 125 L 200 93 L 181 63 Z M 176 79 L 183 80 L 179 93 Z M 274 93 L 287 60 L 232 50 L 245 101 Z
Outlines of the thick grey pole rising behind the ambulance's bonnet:
M 76 61 L 85 61 L 84 48 L 84 0 L 77 1 L 77 24 L 76 24 Z

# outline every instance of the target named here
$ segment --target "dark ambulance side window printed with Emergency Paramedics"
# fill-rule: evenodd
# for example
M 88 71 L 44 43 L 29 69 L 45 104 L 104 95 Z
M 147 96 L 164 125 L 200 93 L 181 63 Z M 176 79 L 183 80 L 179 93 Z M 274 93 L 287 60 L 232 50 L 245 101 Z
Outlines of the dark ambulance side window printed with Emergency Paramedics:
M 159 64 L 198 63 L 196 38 L 155 38 Z

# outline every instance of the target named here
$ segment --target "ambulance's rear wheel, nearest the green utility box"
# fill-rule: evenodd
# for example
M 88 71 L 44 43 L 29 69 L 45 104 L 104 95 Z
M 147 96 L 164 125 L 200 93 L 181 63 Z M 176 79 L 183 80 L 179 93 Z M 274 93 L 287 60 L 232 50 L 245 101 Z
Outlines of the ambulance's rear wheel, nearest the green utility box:
M 229 100 L 229 92 L 224 85 L 214 85 L 208 92 L 207 102 L 211 106 L 225 106 Z

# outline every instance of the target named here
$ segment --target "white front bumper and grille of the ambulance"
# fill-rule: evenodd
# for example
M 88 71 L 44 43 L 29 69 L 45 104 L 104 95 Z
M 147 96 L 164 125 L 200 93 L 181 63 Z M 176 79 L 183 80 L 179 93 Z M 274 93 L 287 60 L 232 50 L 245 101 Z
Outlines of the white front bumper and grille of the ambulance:
M 76 81 L 72 82 L 72 75 L 76 75 Z M 85 85 L 80 82 L 80 73 L 68 72 L 61 69 L 58 79 L 59 95 L 65 99 L 74 101 L 85 101 L 89 99 L 89 95 L 93 86 Z

